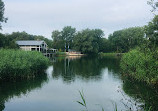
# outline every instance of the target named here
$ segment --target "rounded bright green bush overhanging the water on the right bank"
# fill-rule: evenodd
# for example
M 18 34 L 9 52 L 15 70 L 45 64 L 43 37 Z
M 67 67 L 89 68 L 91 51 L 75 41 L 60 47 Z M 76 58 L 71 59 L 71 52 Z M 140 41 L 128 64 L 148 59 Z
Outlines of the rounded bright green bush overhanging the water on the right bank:
M 124 74 L 139 81 L 148 84 L 158 83 L 158 61 L 150 50 L 144 53 L 134 49 L 124 54 L 120 66 Z

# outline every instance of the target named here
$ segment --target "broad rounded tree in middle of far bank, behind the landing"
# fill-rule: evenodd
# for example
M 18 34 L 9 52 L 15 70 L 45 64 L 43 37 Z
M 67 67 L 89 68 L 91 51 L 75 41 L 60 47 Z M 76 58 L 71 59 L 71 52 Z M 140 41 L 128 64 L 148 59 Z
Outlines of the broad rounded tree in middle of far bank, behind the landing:
M 100 29 L 85 29 L 74 38 L 74 49 L 86 54 L 97 54 L 104 33 Z

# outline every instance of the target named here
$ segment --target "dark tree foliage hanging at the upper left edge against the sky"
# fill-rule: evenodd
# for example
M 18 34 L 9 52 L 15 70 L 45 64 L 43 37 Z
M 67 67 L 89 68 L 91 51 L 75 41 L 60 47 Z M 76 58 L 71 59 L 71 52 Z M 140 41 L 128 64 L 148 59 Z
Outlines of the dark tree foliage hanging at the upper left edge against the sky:
M 4 17 L 4 2 L 2 0 L 0 0 L 0 29 L 2 29 L 2 22 L 7 22 L 7 18 Z

